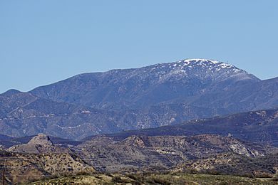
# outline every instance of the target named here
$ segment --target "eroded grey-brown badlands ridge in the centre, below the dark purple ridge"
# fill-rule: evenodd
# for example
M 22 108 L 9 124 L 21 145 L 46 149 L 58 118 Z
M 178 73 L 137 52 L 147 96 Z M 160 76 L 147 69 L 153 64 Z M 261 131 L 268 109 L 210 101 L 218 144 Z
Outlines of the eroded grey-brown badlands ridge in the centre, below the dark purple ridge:
M 103 136 L 80 144 L 76 149 L 84 159 L 93 159 L 89 161 L 96 169 L 105 171 L 163 170 L 225 152 L 245 157 L 261 157 L 268 153 L 259 145 L 210 134 L 192 137 L 134 135 L 125 139 Z

